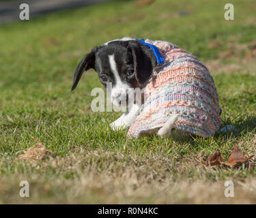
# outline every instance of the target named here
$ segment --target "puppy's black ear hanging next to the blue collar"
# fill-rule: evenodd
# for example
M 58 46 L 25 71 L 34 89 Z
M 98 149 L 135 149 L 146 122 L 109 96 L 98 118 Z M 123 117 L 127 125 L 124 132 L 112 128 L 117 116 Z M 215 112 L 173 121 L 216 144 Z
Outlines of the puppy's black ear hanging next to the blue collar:
M 156 58 L 152 50 L 139 42 L 130 42 L 128 50 L 132 53 L 134 74 L 140 84 L 145 84 L 152 76 Z

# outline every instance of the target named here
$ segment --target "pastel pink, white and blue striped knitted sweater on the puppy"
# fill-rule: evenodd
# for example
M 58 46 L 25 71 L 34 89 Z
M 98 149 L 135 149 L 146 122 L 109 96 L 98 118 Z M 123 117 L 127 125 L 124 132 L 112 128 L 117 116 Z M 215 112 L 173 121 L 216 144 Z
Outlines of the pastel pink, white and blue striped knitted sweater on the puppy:
M 208 69 L 186 50 L 162 41 L 145 40 L 165 59 L 156 65 L 145 87 L 145 102 L 130 126 L 128 137 L 138 138 L 162 127 L 180 114 L 174 128 L 209 137 L 221 125 L 218 93 Z

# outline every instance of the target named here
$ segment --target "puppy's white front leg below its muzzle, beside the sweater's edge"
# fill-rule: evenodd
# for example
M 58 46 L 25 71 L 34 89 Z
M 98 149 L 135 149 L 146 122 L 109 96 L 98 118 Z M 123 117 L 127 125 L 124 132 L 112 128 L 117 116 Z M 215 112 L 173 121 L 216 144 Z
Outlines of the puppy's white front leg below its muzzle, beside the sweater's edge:
M 111 129 L 117 130 L 129 127 L 134 121 L 138 110 L 139 106 L 137 104 L 132 105 L 130 111 L 126 111 L 124 114 L 122 114 L 122 116 L 119 117 L 119 119 L 110 124 Z

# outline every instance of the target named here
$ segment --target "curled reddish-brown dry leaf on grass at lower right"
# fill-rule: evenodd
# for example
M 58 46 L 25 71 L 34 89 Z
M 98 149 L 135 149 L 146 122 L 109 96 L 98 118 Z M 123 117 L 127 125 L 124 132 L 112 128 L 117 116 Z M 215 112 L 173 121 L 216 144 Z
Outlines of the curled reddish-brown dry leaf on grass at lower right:
M 249 157 L 245 157 L 244 153 L 238 148 L 238 144 L 234 147 L 231 155 L 229 156 L 229 159 L 224 162 L 221 157 L 221 152 L 216 151 L 214 155 L 211 155 L 209 157 L 209 166 L 219 166 L 219 165 L 225 165 L 225 166 L 238 166 L 239 163 L 244 163 L 248 159 L 251 159 L 254 155 L 251 155 Z M 203 163 L 203 166 L 208 166 L 207 164 Z

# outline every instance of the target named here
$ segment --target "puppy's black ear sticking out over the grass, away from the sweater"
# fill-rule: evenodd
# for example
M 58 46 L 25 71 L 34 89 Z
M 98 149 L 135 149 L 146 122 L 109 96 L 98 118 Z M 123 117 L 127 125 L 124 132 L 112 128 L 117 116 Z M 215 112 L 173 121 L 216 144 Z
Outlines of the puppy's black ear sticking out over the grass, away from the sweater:
M 71 91 L 73 91 L 76 88 L 84 71 L 87 71 L 88 69 L 91 69 L 91 68 L 94 69 L 95 53 L 97 50 L 98 50 L 98 47 L 95 47 L 94 49 L 92 49 L 91 52 L 89 52 L 89 54 L 87 54 L 85 58 L 82 61 L 80 61 L 79 65 L 76 66 L 76 70 L 74 71 L 74 82 L 73 82 Z

